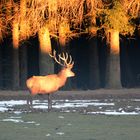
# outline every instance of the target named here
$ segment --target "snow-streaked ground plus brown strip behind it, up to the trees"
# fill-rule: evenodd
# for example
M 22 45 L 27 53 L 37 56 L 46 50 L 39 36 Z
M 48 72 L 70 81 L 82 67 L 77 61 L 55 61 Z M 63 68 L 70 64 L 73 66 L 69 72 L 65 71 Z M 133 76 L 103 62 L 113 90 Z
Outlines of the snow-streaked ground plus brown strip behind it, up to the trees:
M 33 98 L 28 106 L 28 91 L 1 91 L 0 112 L 47 112 L 46 97 Z M 140 90 L 60 91 L 52 96 L 52 111 L 94 115 L 140 115 Z

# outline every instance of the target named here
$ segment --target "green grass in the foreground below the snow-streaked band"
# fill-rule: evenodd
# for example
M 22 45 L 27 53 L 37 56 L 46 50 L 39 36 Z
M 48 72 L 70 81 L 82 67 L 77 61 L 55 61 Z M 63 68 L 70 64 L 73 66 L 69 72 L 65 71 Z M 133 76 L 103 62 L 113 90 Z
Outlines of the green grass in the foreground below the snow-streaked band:
M 0 140 L 139 140 L 139 122 L 140 116 L 0 113 Z

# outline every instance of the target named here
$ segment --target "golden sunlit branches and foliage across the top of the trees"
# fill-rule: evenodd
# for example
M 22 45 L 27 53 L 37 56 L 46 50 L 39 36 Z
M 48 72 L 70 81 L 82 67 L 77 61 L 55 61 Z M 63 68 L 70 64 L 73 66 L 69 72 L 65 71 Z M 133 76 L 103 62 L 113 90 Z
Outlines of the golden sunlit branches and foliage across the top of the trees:
M 116 5 L 113 11 L 110 5 L 112 3 L 115 5 L 118 2 L 121 6 L 118 5 L 117 8 Z M 17 8 L 17 19 L 15 19 L 15 7 Z M 120 13 L 121 16 L 118 17 Z M 89 27 L 90 32 L 95 34 L 96 30 L 99 29 L 95 28 L 98 26 L 96 23 L 97 17 L 102 26 L 100 28 L 113 29 L 115 27 L 114 29 L 116 29 L 118 19 L 127 24 L 129 17 L 126 14 L 128 13 L 133 17 L 140 14 L 139 0 L 1 0 L 0 38 L 2 39 L 4 34 L 7 34 L 7 29 L 9 34 L 10 30 L 14 32 L 14 26 L 19 26 L 16 29 L 18 33 L 19 28 L 19 36 L 17 35 L 16 40 L 22 41 L 36 35 L 44 26 L 47 26 L 49 34 L 58 37 L 60 43 L 65 44 L 67 38 L 76 35 L 75 32 L 77 31 L 78 33 L 81 32 L 80 28 L 83 21 L 84 26 Z M 117 22 L 115 19 L 117 19 Z M 105 22 L 105 20 L 108 22 Z M 9 26 L 9 23 L 13 25 Z M 119 30 L 123 29 L 121 31 L 123 33 L 127 33 L 127 29 L 130 31 L 131 28 L 131 26 L 128 26 L 127 29 L 120 25 L 118 26 L 121 27 Z M 15 38 L 15 35 L 13 38 Z

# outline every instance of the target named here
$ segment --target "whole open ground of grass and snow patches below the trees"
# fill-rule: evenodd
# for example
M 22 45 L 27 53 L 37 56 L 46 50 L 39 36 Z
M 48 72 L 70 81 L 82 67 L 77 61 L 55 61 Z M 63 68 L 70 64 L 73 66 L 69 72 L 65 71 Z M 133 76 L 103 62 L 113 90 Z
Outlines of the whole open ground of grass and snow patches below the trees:
M 51 112 L 46 99 L 36 97 L 28 107 L 23 91 L 1 92 L 0 140 L 139 140 L 139 90 L 125 92 L 58 93 Z

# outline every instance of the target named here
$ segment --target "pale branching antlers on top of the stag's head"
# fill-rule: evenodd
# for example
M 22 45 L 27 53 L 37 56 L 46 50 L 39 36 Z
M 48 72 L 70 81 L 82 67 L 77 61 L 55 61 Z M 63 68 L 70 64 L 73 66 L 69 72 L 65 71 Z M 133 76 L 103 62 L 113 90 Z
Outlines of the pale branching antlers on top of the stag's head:
M 67 67 L 67 68 L 72 68 L 74 65 L 74 61 L 72 61 L 72 57 L 71 55 L 68 55 L 68 53 L 62 53 L 59 54 L 59 60 L 56 58 L 56 51 L 54 50 L 52 54 L 49 54 L 50 57 L 54 58 L 54 60 L 60 64 L 63 67 Z M 68 61 L 69 59 L 69 61 Z M 61 63 L 61 61 L 63 61 L 63 63 Z

